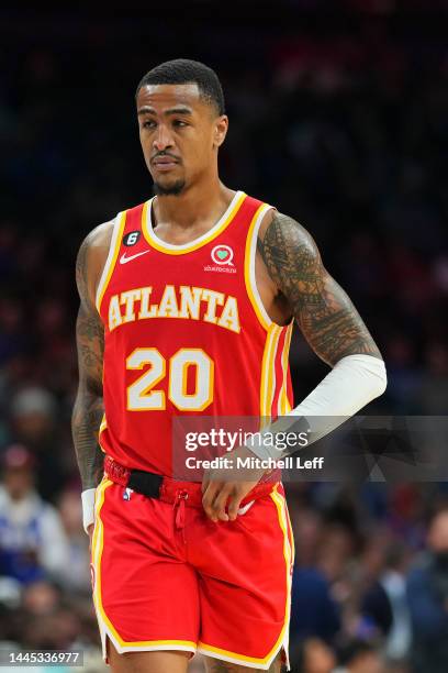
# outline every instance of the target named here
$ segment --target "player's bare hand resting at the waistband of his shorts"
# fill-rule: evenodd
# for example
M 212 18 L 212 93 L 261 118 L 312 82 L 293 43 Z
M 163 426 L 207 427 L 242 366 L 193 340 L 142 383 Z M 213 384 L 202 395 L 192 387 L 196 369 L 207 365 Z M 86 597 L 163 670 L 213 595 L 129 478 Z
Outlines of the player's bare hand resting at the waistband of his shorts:
M 247 446 L 240 446 L 227 453 L 226 457 L 232 460 L 232 467 L 209 470 L 202 479 L 202 505 L 206 516 L 214 522 L 234 521 L 238 516 L 242 500 L 258 484 L 266 472 L 262 468 L 237 467 L 237 457 L 256 457 L 255 453 L 249 451 Z

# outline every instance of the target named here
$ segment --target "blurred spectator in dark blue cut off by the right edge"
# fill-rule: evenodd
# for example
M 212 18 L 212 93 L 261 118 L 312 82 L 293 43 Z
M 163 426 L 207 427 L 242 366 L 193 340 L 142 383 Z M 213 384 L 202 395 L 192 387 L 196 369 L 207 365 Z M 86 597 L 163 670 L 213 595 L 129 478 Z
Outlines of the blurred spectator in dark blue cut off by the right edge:
M 411 570 L 407 599 L 413 646 L 412 673 L 448 671 L 448 503 L 436 508 L 427 536 L 428 551 Z

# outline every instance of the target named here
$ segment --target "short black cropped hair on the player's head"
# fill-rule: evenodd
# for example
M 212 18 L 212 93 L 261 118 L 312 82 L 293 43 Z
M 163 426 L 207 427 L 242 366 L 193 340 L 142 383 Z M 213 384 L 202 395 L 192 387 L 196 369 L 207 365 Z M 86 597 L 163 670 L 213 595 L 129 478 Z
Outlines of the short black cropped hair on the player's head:
M 225 114 L 225 101 L 221 81 L 214 70 L 199 60 L 176 58 L 156 66 L 141 79 L 135 96 L 142 87 L 163 84 L 197 84 L 201 97 Z

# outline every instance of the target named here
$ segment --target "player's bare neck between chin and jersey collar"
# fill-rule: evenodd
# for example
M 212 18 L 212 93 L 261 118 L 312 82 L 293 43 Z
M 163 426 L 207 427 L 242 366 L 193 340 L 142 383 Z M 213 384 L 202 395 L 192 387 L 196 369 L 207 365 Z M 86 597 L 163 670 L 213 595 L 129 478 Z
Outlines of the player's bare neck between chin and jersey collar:
M 179 196 L 157 196 L 153 202 L 155 224 L 190 229 L 197 224 L 217 220 L 234 197 L 217 175 L 204 184 L 188 187 Z

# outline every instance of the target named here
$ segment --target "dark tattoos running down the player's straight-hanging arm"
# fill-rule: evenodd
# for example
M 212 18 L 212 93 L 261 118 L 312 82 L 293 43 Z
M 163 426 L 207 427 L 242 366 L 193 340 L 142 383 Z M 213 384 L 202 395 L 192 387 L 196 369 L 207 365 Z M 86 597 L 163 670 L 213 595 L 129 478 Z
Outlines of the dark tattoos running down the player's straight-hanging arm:
M 98 445 L 98 432 L 103 416 L 104 330 L 88 296 L 86 242 L 78 254 L 76 275 L 81 298 L 76 326 L 79 387 L 71 417 L 71 431 L 82 488 L 93 488 L 101 478 L 103 464 L 103 452 Z

